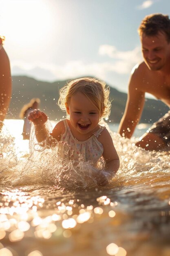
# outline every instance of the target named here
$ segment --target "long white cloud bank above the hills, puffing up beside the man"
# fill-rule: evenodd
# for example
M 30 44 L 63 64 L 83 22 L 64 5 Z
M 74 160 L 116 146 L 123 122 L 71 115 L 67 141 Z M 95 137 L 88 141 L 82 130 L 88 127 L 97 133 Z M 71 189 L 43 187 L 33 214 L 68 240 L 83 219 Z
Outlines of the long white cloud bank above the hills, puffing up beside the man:
M 106 80 L 108 73 L 130 74 L 132 67 L 141 62 L 141 50 L 136 47 L 132 51 L 118 51 L 113 45 L 101 45 L 99 54 L 109 56 L 109 61 L 102 63 L 83 61 L 70 61 L 63 65 L 48 63 L 23 63 L 20 61 L 11 62 L 12 75 L 25 74 L 36 79 L 54 81 L 76 78 L 81 76 L 95 76 Z

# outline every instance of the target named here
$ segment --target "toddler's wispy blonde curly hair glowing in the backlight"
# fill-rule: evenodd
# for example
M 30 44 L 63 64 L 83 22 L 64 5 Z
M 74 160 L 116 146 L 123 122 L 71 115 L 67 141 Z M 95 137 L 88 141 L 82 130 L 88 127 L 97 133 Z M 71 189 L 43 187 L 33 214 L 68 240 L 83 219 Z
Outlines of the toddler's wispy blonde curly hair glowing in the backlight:
M 99 110 L 101 118 L 106 118 L 110 115 L 110 89 L 106 87 L 106 83 L 91 77 L 83 77 L 67 83 L 60 89 L 60 98 L 58 100 L 58 105 L 63 111 L 66 111 L 71 97 L 77 92 L 82 92 L 94 104 Z

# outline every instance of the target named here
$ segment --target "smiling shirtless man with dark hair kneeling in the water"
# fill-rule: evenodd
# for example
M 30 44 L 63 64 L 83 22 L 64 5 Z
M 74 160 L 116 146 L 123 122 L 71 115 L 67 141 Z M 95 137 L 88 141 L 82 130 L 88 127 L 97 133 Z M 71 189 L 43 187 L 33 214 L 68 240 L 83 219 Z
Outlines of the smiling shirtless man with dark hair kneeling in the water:
M 128 99 L 118 132 L 130 138 L 139 123 L 145 102 L 145 92 L 154 95 L 170 107 L 170 19 L 151 14 L 138 29 L 144 62 L 131 73 Z M 146 150 L 163 150 L 170 146 L 170 111 L 139 139 L 136 144 Z

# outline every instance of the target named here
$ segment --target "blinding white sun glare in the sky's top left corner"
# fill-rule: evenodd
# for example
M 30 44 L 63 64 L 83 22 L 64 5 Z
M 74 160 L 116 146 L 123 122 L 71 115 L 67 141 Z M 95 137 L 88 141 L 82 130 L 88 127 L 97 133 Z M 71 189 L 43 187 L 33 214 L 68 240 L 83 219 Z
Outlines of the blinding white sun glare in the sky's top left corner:
M 13 45 L 27 47 L 43 43 L 52 27 L 51 11 L 46 0 L 1 0 L 0 35 Z M 42 40 L 41 40 L 42 39 Z

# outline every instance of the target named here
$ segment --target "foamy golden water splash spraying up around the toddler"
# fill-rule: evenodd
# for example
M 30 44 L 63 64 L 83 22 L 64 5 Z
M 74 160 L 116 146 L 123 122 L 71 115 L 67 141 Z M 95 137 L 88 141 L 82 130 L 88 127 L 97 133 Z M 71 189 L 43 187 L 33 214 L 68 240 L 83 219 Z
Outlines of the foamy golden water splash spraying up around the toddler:
M 46 128 L 52 130 L 50 121 L 46 123 Z M 107 129 L 110 131 L 108 126 Z M 109 188 L 134 184 L 154 186 L 155 183 L 160 183 L 161 185 L 169 179 L 169 152 L 142 150 L 135 146 L 135 138 L 125 139 L 111 131 L 110 134 L 120 157 L 120 168 L 113 181 L 110 182 Z M 14 149 L 14 138 L 5 126 L 0 136 L 0 150 L 3 155 L 0 157 L 0 180 L 3 185 L 10 184 L 14 188 L 29 185 L 55 186 L 55 189 L 59 190 L 97 187 L 93 175 L 97 169 L 90 162 L 83 162 L 81 159 L 79 162 L 63 161 L 57 154 L 57 143 L 49 147 L 48 141 L 37 142 L 34 126 L 31 127 L 29 157 L 18 159 Z M 103 167 L 104 161 L 101 160 L 99 169 Z

